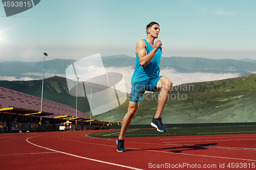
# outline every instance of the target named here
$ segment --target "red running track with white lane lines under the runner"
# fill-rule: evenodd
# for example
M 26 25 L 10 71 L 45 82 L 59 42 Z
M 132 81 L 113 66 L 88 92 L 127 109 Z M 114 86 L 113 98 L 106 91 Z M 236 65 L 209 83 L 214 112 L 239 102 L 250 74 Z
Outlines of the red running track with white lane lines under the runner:
M 86 136 L 115 131 L 0 134 L 1 169 L 256 169 L 256 134 L 125 138 Z M 230 167 L 228 167 L 228 165 Z

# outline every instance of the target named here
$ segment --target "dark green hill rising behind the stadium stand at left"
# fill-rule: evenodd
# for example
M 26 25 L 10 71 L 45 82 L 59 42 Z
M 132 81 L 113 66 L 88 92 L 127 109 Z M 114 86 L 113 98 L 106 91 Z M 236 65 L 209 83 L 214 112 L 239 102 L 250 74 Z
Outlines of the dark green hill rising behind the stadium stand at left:
M 5 87 L 41 98 L 42 80 L 0 81 L 0 87 Z M 45 79 L 43 98 L 76 108 L 76 96 L 69 94 L 66 78 L 54 76 Z M 81 112 L 90 111 L 87 98 L 78 97 L 77 101 L 77 110 Z

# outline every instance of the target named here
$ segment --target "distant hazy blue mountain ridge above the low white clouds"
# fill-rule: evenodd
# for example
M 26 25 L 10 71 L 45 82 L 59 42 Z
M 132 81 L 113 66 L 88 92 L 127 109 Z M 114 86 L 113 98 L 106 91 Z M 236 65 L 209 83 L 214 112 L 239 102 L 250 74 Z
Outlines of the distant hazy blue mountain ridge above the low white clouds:
M 45 61 L 46 77 L 65 77 L 66 68 L 76 60 L 54 59 Z M 135 67 L 134 57 L 117 55 L 102 57 L 104 67 Z M 42 78 L 43 62 L 0 62 L 0 77 L 15 77 L 16 79 L 28 77 L 31 79 Z M 205 59 L 194 57 L 162 57 L 160 69 L 173 68 L 177 72 L 209 72 L 209 73 L 237 73 L 247 76 L 256 72 L 256 61 L 251 59 Z M 2 79 L 3 80 L 3 79 Z

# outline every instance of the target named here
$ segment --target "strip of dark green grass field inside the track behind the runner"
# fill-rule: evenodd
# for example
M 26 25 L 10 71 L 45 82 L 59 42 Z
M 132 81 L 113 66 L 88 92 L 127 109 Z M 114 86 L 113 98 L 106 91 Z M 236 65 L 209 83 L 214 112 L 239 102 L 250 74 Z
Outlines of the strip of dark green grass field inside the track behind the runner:
M 98 138 L 117 138 L 120 131 L 100 132 L 88 134 Z M 128 129 L 125 137 L 155 137 L 155 136 L 193 136 L 193 135 L 224 135 L 224 134 L 254 134 L 256 126 L 227 126 L 201 128 L 168 128 L 167 132 L 158 132 L 156 129 Z

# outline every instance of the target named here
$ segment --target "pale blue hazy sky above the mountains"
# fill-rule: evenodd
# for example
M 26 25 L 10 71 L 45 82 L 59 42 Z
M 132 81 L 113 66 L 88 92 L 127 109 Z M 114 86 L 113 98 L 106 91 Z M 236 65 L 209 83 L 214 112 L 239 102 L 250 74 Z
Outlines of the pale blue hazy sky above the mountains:
M 256 59 L 256 1 L 43 0 L 6 17 L 0 7 L 0 61 L 135 57 L 151 21 L 164 57 Z

